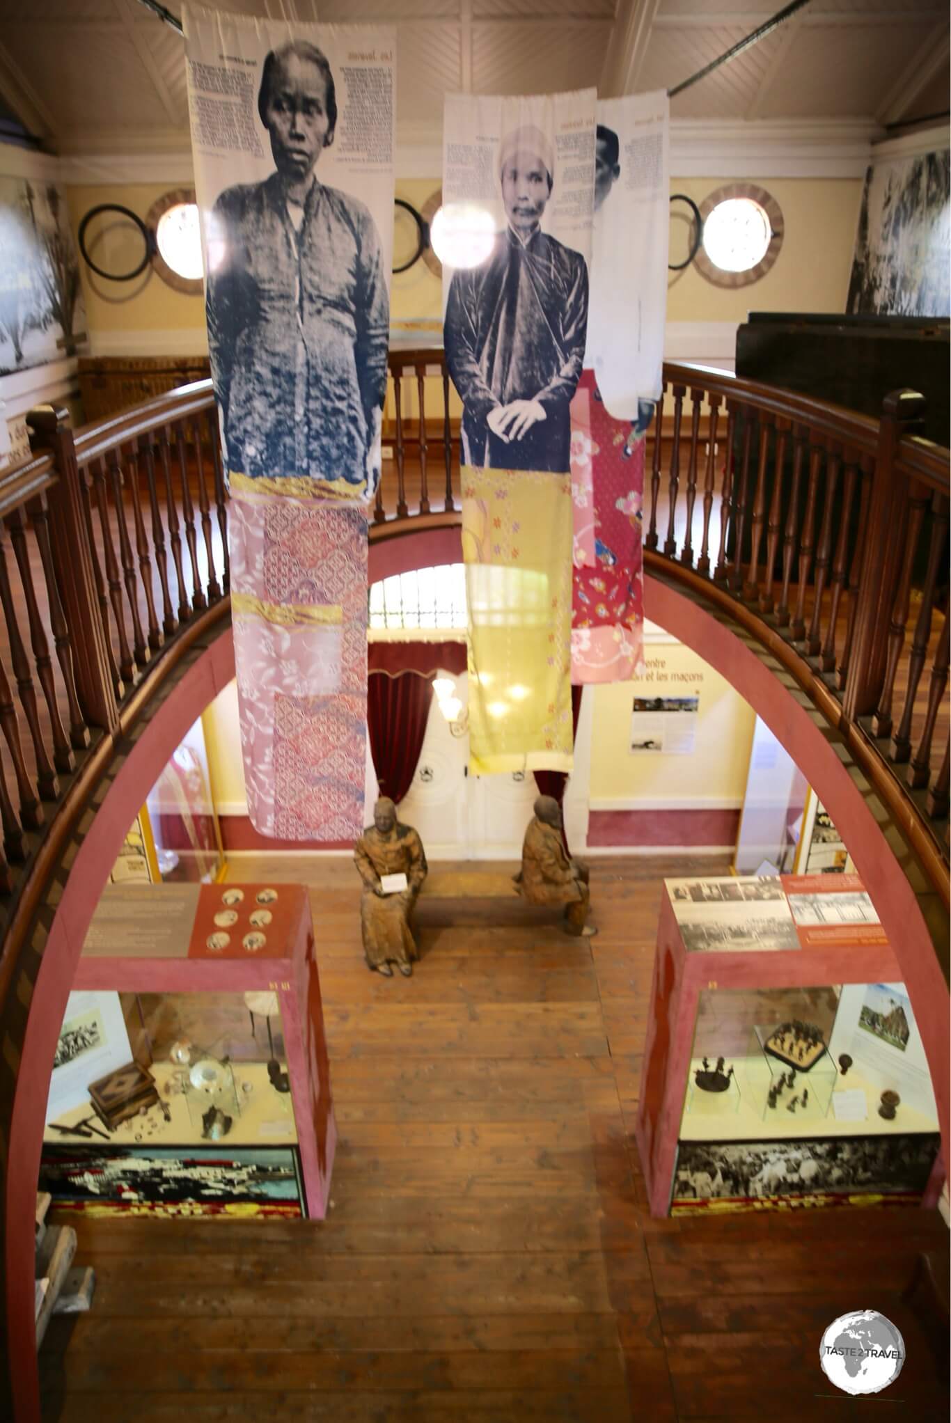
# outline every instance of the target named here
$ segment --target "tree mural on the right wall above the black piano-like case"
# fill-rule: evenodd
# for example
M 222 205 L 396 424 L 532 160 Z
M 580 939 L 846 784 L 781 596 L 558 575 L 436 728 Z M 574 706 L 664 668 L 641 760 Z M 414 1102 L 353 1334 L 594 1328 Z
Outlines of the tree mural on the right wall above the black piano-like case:
M 948 316 L 951 151 L 880 162 L 866 175 L 850 314 Z

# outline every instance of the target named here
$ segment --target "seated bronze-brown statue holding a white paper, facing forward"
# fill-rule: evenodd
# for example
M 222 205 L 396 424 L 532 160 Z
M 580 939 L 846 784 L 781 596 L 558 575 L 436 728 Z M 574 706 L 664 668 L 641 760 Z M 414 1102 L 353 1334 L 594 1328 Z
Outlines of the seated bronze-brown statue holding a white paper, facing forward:
M 373 824 L 357 840 L 353 859 L 363 881 L 360 929 L 367 968 L 393 978 L 390 963 L 396 963 L 410 978 L 413 959 L 419 958 L 410 915 L 429 865 L 423 841 L 411 825 L 400 825 L 396 805 L 386 795 L 373 807 Z M 387 894 L 380 877 L 399 874 L 406 875 L 406 889 Z

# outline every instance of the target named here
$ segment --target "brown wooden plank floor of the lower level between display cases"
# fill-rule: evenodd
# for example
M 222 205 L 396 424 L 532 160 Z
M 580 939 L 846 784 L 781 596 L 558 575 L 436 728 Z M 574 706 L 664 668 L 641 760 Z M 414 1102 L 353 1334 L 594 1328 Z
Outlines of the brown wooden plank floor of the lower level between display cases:
M 661 879 L 715 868 L 597 859 L 594 941 L 430 924 L 406 980 L 363 965 L 346 859 L 235 864 L 232 878 L 312 888 L 332 1210 L 323 1224 L 80 1220 L 95 1301 L 53 1321 L 46 1419 L 841 1419 L 876 1405 L 831 1396 L 819 1339 L 870 1306 L 907 1345 L 883 1399 L 947 1417 L 947 1380 L 898 1298 L 920 1249 L 947 1257 L 937 1212 L 646 1214 L 632 1128 Z

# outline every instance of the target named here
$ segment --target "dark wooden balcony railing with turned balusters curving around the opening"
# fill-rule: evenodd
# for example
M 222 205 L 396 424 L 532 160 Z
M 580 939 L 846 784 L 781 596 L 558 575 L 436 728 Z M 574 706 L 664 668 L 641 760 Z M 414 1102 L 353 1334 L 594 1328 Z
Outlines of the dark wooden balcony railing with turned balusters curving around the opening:
M 394 351 L 390 374 L 373 539 L 460 519 L 441 351 Z M 648 437 L 649 571 L 780 647 L 947 904 L 950 455 L 915 435 L 921 397 L 900 391 L 870 420 L 718 370 L 663 374 Z M 196 619 L 224 616 L 228 595 L 209 381 L 75 434 L 50 407 L 28 425 L 33 457 L 0 474 L 7 921 L 80 763 L 121 733 L 151 669 Z

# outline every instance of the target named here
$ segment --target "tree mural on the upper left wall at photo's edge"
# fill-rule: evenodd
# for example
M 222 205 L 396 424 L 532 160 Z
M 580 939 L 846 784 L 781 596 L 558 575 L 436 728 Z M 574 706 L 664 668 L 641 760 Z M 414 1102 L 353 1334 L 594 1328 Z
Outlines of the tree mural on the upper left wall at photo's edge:
M 0 376 L 71 356 L 84 334 L 64 189 L 0 176 Z

